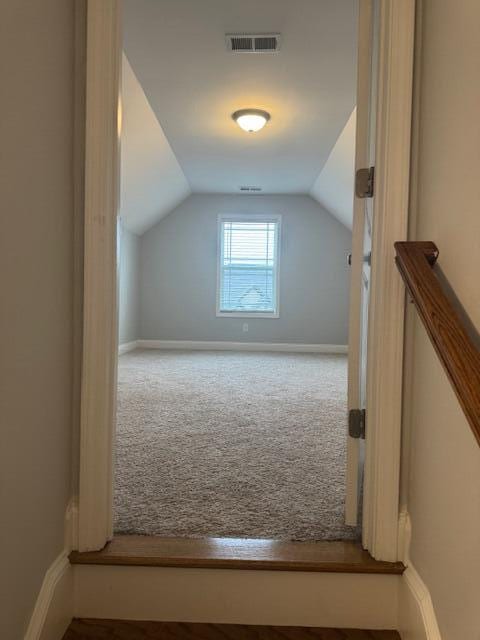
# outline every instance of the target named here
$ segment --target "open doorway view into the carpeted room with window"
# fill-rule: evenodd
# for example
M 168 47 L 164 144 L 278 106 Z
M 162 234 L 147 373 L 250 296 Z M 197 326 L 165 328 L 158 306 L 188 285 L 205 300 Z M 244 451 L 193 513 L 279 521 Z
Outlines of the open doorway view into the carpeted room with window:
M 123 2 L 118 534 L 360 537 L 357 29 L 356 0 Z

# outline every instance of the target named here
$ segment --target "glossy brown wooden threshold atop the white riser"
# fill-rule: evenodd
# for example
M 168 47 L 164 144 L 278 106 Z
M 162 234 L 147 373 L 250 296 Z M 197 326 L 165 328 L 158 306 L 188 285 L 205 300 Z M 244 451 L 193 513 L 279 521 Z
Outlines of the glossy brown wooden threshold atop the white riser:
M 263 569 L 401 574 L 401 562 L 374 560 L 356 542 L 284 542 L 249 538 L 115 536 L 101 551 L 70 554 L 72 564 L 202 569 Z

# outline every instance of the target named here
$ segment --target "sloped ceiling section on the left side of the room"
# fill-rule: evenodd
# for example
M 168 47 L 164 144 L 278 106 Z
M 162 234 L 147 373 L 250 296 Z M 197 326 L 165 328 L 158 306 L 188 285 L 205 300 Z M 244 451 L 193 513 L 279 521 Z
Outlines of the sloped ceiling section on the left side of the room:
M 120 156 L 120 217 L 141 235 L 179 205 L 190 186 L 125 55 Z

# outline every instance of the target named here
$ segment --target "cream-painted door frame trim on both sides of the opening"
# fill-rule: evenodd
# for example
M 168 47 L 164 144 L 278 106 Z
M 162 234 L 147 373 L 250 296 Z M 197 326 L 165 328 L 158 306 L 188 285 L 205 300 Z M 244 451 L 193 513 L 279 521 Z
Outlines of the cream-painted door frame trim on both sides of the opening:
M 395 561 L 405 295 L 393 243 L 407 237 L 415 0 L 380 1 L 363 545 Z M 101 549 L 113 535 L 120 22 L 120 0 L 87 1 L 80 551 Z

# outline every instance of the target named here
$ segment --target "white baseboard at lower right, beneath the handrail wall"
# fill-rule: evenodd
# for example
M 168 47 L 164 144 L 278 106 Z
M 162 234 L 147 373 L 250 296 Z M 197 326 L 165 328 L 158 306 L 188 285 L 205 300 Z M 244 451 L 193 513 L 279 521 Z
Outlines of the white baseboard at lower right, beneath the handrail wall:
M 411 530 L 410 518 L 404 512 L 400 519 L 400 540 L 407 569 L 400 585 L 399 632 L 402 640 L 442 640 L 430 592 L 410 560 Z

